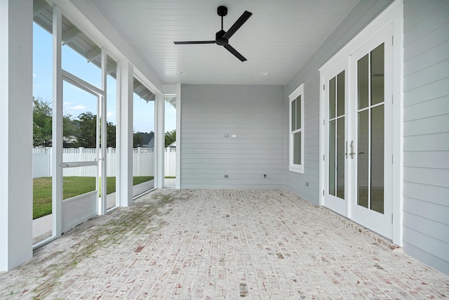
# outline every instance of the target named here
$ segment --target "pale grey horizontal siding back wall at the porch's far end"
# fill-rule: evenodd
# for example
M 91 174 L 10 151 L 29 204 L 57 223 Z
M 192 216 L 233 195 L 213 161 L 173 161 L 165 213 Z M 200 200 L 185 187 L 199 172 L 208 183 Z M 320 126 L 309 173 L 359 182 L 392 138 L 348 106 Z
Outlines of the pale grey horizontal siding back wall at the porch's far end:
M 283 188 L 283 86 L 181 89 L 181 188 Z

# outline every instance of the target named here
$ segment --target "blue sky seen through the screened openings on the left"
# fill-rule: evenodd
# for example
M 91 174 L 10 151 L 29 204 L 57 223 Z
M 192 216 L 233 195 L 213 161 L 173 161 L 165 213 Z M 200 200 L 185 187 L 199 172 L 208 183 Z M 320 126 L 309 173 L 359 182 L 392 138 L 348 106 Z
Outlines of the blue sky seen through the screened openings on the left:
M 39 25 L 33 25 L 33 96 L 52 99 L 52 36 Z M 101 87 L 101 70 L 87 63 L 78 53 L 68 46 L 62 46 L 62 69 L 74 74 L 98 88 Z M 116 83 L 113 77 L 107 77 L 107 122 L 116 124 Z M 97 115 L 96 97 L 67 82 L 63 85 L 64 114 L 76 118 L 83 112 Z M 134 94 L 133 131 L 154 131 L 154 101 L 148 103 Z M 176 129 L 175 108 L 166 103 L 165 131 Z

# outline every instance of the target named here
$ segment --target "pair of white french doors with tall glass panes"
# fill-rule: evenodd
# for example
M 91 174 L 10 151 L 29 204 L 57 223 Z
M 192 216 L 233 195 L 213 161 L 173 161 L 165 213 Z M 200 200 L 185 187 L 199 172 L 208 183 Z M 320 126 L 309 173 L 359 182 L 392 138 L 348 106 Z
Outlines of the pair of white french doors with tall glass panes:
M 392 238 L 391 27 L 326 73 L 323 205 Z

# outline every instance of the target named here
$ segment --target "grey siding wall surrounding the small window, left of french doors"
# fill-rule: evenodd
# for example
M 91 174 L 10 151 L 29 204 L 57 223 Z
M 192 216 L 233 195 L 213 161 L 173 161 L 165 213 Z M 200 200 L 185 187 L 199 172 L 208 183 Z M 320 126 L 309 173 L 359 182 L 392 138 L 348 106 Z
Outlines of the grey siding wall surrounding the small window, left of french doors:
M 288 95 L 304 82 L 304 174 L 288 171 L 289 190 L 314 204 L 319 204 L 319 68 L 384 11 L 392 1 L 359 1 L 323 44 L 314 52 L 286 86 L 286 157 L 288 157 Z M 300 30 L 300 29 L 298 29 Z M 306 186 L 309 183 L 309 186 Z

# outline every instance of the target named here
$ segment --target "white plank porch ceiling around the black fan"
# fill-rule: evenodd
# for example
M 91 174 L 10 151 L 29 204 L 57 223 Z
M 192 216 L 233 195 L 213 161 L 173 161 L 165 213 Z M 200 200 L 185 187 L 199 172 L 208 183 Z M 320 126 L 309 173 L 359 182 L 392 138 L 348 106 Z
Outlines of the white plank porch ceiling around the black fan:
M 91 1 L 163 84 L 287 84 L 358 0 Z M 229 39 L 243 63 L 216 44 L 173 44 L 214 40 L 220 5 L 225 31 L 253 13 Z

